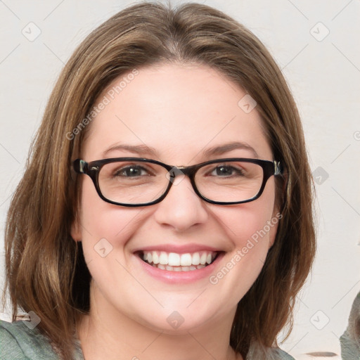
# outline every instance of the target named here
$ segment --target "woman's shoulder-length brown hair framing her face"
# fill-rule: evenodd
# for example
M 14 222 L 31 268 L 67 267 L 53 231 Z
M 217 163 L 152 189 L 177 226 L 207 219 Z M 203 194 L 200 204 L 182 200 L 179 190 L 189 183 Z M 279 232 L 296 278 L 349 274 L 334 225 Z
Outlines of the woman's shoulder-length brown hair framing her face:
M 252 32 L 209 6 L 131 6 L 89 34 L 65 65 L 8 211 L 6 289 L 13 320 L 17 307 L 34 311 L 39 330 L 63 359 L 71 359 L 75 326 L 89 311 L 91 279 L 81 243 L 70 236 L 79 188 L 71 161 L 91 125 L 75 139 L 68 134 L 110 82 L 155 63 L 207 65 L 245 89 L 257 101 L 274 159 L 286 165 L 286 191 L 283 182 L 277 184 L 283 217 L 275 243 L 233 321 L 230 344 L 236 352 L 245 358 L 252 342 L 276 346 L 286 325 L 290 333 L 295 297 L 311 269 L 314 186 L 300 117 L 274 59 Z

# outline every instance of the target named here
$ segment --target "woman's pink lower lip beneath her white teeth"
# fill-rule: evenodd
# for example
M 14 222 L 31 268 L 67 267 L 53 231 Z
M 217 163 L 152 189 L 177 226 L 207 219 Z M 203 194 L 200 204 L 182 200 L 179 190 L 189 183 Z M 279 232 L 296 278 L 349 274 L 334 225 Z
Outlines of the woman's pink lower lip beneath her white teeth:
M 139 256 L 135 256 L 139 259 L 139 262 L 141 263 L 141 266 L 143 266 L 144 271 L 160 281 L 165 281 L 166 283 L 191 283 L 202 280 L 204 278 L 209 278 L 210 275 L 214 272 L 215 267 L 219 263 L 220 259 L 224 256 L 224 253 L 219 253 L 217 258 L 214 259 L 210 265 L 207 265 L 201 269 L 189 271 L 169 271 L 158 269 L 157 267 L 144 262 L 142 259 L 140 259 Z

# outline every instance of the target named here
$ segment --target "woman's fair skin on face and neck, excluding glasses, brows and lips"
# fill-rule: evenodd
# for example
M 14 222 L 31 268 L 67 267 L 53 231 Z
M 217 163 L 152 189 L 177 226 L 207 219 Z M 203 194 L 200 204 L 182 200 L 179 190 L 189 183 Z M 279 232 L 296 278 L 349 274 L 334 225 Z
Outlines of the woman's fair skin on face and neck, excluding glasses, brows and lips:
M 212 146 L 242 141 L 256 150 L 259 159 L 274 160 L 256 108 L 247 114 L 238 106 L 243 96 L 243 89 L 205 65 L 141 68 L 91 122 L 81 157 L 90 162 L 134 156 L 177 166 L 213 158 L 254 158 L 245 149 L 211 158 L 203 155 Z M 157 156 L 129 150 L 103 155 L 119 143 L 145 144 L 155 148 Z M 212 273 L 216 274 L 276 216 L 274 204 L 274 176 L 262 196 L 250 203 L 205 203 L 184 178 L 162 202 L 137 208 L 105 203 L 89 176 L 82 176 L 72 237 L 82 241 L 93 278 L 91 311 L 78 328 L 86 360 L 242 359 L 229 346 L 231 324 L 238 302 L 264 265 L 277 226 L 216 285 L 208 277 L 186 284 L 160 281 L 143 271 L 134 250 L 169 243 L 212 246 L 225 252 Z M 101 238 L 113 246 L 106 257 L 94 251 Z M 167 323 L 173 311 L 184 319 L 177 329 Z

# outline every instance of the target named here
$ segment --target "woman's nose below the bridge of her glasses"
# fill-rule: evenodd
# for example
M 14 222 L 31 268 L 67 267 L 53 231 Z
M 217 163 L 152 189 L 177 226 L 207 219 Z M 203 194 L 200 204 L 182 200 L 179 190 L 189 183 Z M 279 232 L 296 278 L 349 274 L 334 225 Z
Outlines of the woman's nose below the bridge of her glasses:
M 204 224 L 208 218 L 205 202 L 196 195 L 187 176 L 174 181 L 165 199 L 155 206 L 158 224 L 171 226 L 176 231 Z

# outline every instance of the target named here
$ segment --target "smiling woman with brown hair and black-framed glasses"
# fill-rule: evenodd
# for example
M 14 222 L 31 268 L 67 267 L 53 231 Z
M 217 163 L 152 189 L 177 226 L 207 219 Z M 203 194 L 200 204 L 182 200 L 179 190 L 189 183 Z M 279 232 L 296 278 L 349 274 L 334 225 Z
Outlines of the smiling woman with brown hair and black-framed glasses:
M 200 4 L 117 13 L 61 73 L 8 212 L 30 321 L 1 323 L 4 356 L 291 359 L 276 336 L 314 259 L 311 191 L 251 32 Z

